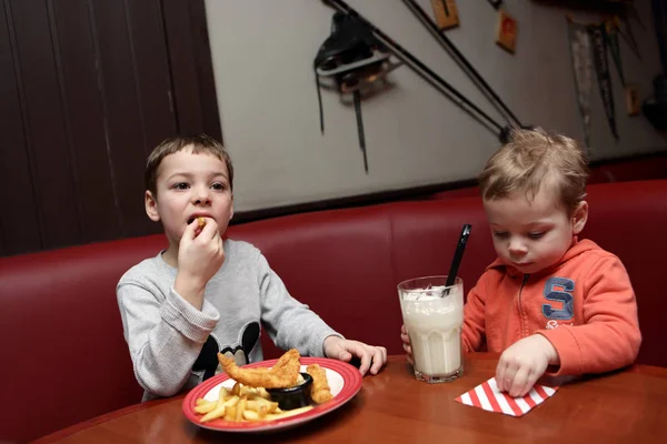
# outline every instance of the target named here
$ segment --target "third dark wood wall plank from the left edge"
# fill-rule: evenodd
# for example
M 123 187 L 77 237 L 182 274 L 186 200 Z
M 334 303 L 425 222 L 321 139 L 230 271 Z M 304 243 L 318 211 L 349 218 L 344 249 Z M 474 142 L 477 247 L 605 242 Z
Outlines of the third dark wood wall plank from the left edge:
M 50 0 L 54 51 L 62 79 L 66 124 L 78 178 L 81 242 L 121 235 L 109 169 L 102 95 L 96 69 L 90 10 L 87 0 Z

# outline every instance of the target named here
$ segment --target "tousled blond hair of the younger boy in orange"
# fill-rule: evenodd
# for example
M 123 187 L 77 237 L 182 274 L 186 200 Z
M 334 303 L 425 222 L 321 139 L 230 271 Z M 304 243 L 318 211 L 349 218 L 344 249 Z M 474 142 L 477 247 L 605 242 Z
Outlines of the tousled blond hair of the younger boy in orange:
M 586 199 L 588 159 L 584 147 L 563 134 L 537 128 L 514 130 L 479 174 L 484 200 L 525 192 L 529 200 L 545 182 L 556 185 L 561 202 L 574 211 Z

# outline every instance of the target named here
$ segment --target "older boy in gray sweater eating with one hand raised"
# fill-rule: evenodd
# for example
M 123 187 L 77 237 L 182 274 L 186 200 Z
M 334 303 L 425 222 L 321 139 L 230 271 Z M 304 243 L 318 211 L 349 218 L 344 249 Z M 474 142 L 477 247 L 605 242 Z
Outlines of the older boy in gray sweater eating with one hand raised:
M 131 268 L 117 286 L 125 337 L 145 400 L 171 396 L 220 371 L 263 359 L 260 324 L 280 349 L 376 374 L 387 351 L 344 339 L 289 295 L 259 250 L 222 240 L 233 215 L 233 168 L 216 140 L 165 140 L 146 168 L 146 212 L 162 223 L 167 250 Z

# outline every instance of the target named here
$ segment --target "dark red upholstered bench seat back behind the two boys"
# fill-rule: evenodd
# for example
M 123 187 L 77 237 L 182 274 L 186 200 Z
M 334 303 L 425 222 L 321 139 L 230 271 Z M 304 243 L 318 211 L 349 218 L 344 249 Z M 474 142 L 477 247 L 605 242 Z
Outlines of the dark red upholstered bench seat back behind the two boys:
M 667 180 L 591 185 L 584 233 L 624 261 L 644 333 L 638 361 L 663 366 L 666 195 Z M 342 334 L 397 354 L 397 283 L 446 273 L 464 223 L 472 224 L 460 270 L 469 290 L 495 258 L 479 196 L 282 216 L 228 234 L 261 249 L 291 294 Z M 153 235 L 0 259 L 0 441 L 23 442 L 140 401 L 116 283 L 165 246 Z M 267 345 L 267 357 L 277 353 Z

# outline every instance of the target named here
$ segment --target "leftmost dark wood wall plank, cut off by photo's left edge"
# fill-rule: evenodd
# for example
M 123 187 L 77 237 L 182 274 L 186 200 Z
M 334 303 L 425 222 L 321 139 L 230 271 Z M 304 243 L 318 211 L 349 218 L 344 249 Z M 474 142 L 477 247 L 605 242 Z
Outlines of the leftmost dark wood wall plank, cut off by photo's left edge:
M 9 0 L 0 3 L 0 254 L 41 249 L 38 205 L 31 183 L 30 163 L 20 103 L 20 67 Z M 12 46 L 14 47 L 12 49 Z

